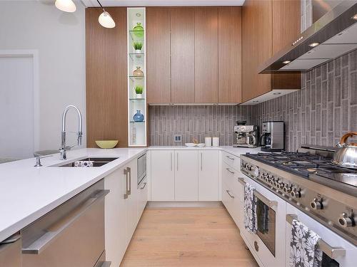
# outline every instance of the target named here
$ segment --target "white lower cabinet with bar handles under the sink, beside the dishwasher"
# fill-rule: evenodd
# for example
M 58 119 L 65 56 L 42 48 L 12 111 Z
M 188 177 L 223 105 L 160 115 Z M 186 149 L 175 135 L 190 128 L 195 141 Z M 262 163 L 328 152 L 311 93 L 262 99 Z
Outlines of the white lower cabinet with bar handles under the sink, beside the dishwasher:
M 137 187 L 136 164 L 134 159 L 104 178 L 110 190 L 105 199 L 105 246 L 111 266 L 120 265 L 148 198 L 147 191 L 145 195 Z

